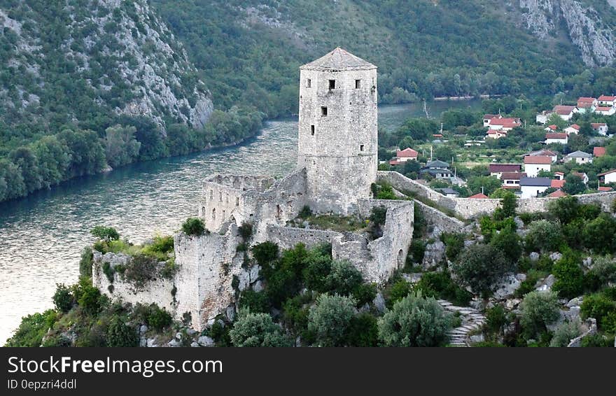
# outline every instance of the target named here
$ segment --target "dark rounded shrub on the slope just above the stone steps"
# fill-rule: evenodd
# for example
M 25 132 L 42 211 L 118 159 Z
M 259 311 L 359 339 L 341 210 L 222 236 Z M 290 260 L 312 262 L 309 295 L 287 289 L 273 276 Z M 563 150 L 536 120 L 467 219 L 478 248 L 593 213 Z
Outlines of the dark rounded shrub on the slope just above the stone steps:
M 475 292 L 489 292 L 498 279 L 513 269 L 514 264 L 503 253 L 482 244 L 469 246 L 454 263 L 456 274 Z

